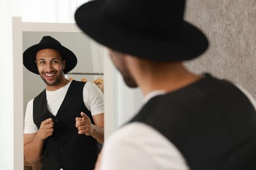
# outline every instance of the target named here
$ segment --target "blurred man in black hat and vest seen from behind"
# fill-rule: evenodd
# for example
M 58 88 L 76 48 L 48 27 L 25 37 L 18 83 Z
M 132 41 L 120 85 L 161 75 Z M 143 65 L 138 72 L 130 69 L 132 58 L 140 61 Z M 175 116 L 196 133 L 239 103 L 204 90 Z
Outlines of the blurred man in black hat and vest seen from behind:
M 106 0 L 75 12 L 127 86 L 144 94 L 142 109 L 104 144 L 97 169 L 256 169 L 255 100 L 182 65 L 208 46 L 183 20 L 184 7 L 184 0 Z

